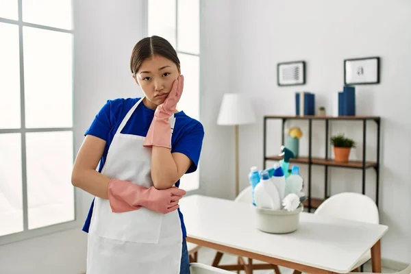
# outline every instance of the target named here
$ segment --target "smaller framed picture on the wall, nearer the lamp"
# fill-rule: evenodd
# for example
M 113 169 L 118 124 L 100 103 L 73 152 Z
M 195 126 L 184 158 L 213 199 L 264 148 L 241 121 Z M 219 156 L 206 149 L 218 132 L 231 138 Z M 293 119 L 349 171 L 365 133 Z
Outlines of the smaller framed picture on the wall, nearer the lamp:
M 306 62 L 283 62 L 277 64 L 278 86 L 297 86 L 306 84 Z

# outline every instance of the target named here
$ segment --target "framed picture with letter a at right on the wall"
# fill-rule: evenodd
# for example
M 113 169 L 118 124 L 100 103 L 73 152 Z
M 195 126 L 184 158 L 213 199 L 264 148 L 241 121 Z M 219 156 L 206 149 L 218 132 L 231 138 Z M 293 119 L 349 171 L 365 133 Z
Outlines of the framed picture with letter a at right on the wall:
M 379 84 L 379 57 L 344 60 L 344 83 Z

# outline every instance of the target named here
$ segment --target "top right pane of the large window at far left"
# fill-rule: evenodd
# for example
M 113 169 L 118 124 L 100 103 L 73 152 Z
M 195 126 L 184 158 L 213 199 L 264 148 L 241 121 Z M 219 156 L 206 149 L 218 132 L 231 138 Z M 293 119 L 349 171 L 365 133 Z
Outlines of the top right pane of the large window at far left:
M 23 0 L 23 21 L 72 29 L 71 0 Z

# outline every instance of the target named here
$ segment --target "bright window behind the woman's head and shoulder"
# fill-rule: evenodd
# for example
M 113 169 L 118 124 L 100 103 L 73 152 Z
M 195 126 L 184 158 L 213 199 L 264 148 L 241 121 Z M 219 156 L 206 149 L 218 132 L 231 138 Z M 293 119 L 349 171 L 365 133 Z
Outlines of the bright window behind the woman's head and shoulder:
M 199 120 L 200 7 L 199 0 L 148 0 L 148 35 L 161 36 L 176 49 L 184 75 L 179 110 Z M 180 180 L 185 190 L 199 188 L 199 169 Z

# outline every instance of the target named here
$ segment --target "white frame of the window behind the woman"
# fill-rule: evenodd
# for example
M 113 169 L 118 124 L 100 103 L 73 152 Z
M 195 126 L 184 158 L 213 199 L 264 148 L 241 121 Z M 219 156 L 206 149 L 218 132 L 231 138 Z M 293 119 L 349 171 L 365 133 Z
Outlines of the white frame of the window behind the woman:
M 142 0 L 142 36 L 147 37 L 149 34 L 149 0 Z M 199 100 L 201 100 L 201 50 L 199 50 L 198 54 L 195 53 L 189 53 L 185 51 L 179 51 L 178 50 L 178 1 L 175 0 L 175 51 L 177 52 L 177 55 L 179 53 L 186 54 L 186 55 L 193 55 L 197 56 L 199 58 Z M 201 49 L 201 0 L 199 0 L 199 45 Z M 201 102 L 199 102 L 199 119 L 201 119 Z M 202 188 L 203 184 L 201 183 L 201 169 L 198 169 L 199 173 L 199 187 L 193 190 L 188 190 L 187 195 L 195 195 L 195 194 L 203 194 L 204 190 Z

